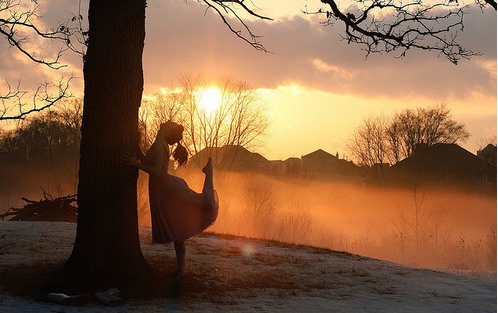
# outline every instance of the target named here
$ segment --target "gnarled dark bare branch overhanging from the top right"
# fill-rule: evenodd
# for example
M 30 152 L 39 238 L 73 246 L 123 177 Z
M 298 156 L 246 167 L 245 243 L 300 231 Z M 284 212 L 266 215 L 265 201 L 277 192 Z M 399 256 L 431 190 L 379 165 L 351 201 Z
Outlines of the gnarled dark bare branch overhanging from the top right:
M 464 29 L 467 9 L 458 0 L 359 0 L 355 6 L 349 6 L 348 2 L 347 8 L 340 8 L 337 0 L 321 2 L 328 9 L 305 13 L 325 14 L 324 25 L 341 21 L 345 26 L 344 39 L 364 46 L 367 56 L 396 51 L 398 57 L 404 57 L 408 50 L 419 49 L 436 51 L 458 64 L 461 59 L 481 55 L 464 48 L 456 40 Z

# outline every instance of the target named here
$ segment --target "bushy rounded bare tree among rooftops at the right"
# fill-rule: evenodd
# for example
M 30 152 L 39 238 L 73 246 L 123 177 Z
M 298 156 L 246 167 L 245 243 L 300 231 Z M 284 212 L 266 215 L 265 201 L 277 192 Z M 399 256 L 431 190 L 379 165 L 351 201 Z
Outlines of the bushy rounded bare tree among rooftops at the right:
M 390 120 L 368 118 L 355 131 L 348 149 L 360 165 L 394 164 L 410 157 L 419 144 L 456 143 L 469 137 L 445 105 L 405 109 Z

